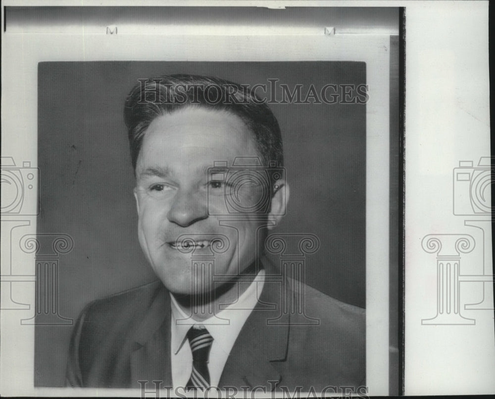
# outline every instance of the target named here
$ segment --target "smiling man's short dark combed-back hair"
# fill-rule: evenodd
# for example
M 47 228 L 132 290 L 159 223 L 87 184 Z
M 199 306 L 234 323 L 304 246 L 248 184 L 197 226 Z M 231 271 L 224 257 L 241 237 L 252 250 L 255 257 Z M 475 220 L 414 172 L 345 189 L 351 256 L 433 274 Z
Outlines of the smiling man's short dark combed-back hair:
M 199 75 L 165 75 L 139 79 L 127 96 L 124 120 L 134 171 L 151 122 L 186 107 L 202 107 L 237 115 L 253 133 L 264 166 L 284 164 L 282 136 L 272 111 L 248 85 Z M 272 164 L 273 165 L 273 164 Z

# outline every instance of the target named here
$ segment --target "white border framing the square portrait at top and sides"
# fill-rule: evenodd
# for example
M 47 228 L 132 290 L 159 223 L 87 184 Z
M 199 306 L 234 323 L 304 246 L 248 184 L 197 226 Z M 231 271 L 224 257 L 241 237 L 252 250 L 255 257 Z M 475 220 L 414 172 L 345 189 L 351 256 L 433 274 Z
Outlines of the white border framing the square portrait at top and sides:
M 389 43 L 388 36 L 169 36 L 165 41 L 164 36 L 120 33 L 117 36 L 55 36 L 41 33 L 3 35 L 2 59 L 5 72 L 4 78 L 2 77 L 2 132 L 6 137 L 17 139 L 5 140 L 2 153 L 19 160 L 37 159 L 37 63 L 41 61 L 365 61 L 370 96 L 366 109 L 366 381 L 371 395 L 387 395 Z M 8 93 L 16 95 L 11 96 Z M 35 218 L 32 220 L 30 228 L 35 233 L 36 221 Z M 34 274 L 34 262 L 32 271 Z M 34 303 L 34 290 L 31 294 L 26 298 L 28 303 Z M 23 395 L 101 395 L 101 390 L 96 389 L 79 391 L 31 387 L 34 372 L 34 329 L 19 325 L 18 311 L 2 314 L 2 342 L 15 343 L 1 346 L 2 362 L 9 364 L 0 369 L 2 394 L 14 395 L 20 392 L 19 387 L 23 387 Z M 12 363 L 13 359 L 17 359 L 17 364 Z M 105 395 L 109 393 L 105 392 Z M 139 395 L 139 392 L 112 390 L 111 395 Z

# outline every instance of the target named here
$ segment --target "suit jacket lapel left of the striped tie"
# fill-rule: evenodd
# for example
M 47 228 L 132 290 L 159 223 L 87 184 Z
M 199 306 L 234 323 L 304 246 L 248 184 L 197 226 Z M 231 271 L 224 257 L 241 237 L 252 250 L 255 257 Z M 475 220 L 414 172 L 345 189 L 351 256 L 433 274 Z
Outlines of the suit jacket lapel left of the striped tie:
M 165 288 L 157 291 L 134 341 L 131 386 L 140 388 L 138 381 L 160 381 L 171 387 L 170 296 Z

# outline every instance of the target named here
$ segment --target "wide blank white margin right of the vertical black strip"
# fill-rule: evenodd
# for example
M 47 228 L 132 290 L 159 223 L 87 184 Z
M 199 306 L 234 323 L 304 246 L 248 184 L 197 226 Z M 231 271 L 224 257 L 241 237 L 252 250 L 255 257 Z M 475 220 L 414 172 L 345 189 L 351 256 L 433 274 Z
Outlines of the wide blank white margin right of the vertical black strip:
M 470 234 L 476 247 L 461 254 L 461 274 L 482 272 L 484 256 L 492 268 L 491 231 L 483 253 L 481 234 L 464 225 L 486 216 L 452 212 L 453 169 L 490 156 L 488 1 L 414 5 L 406 3 L 405 393 L 494 394 L 494 310 L 464 310 L 482 299 L 482 284 L 459 286 L 461 314 L 476 324 L 421 324 L 436 314 L 437 291 L 424 236 Z M 493 309 L 493 285 L 484 287 Z

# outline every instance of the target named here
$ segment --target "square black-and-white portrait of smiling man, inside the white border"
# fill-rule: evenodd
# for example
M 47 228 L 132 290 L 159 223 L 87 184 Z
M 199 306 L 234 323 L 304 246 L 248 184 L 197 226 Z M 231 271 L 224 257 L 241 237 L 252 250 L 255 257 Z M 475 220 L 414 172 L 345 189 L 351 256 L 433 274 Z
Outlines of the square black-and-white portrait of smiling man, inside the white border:
M 67 384 L 365 387 L 364 63 L 55 62 L 39 83 L 38 228 L 80 243 L 60 315 L 113 294 L 78 316 Z M 47 343 L 69 330 L 37 329 L 39 384 L 64 382 Z

